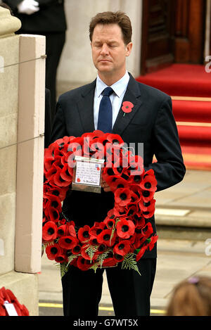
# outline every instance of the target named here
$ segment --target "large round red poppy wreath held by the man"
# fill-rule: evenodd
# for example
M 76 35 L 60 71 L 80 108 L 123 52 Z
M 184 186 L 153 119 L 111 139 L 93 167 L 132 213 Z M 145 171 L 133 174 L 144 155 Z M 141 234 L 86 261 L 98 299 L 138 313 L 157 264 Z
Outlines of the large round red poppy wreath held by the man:
M 114 193 L 115 204 L 106 219 L 77 227 L 62 212 L 72 183 L 75 156 L 104 158 L 102 179 Z M 81 137 L 63 137 L 44 151 L 42 241 L 49 260 L 60 264 L 61 276 L 70 265 L 82 270 L 114 267 L 135 269 L 145 251 L 158 239 L 150 218 L 155 212 L 157 181 L 153 170 L 143 169 L 117 134 L 94 131 Z

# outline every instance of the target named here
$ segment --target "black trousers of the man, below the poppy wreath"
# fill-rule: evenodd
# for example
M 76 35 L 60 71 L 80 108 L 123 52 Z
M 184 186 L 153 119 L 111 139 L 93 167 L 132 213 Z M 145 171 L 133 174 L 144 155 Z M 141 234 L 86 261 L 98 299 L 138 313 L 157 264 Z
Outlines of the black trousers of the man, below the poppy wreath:
M 64 316 L 97 317 L 106 270 L 116 317 L 149 316 L 156 258 L 141 259 L 139 272 L 117 267 L 82 271 L 71 266 L 62 278 Z

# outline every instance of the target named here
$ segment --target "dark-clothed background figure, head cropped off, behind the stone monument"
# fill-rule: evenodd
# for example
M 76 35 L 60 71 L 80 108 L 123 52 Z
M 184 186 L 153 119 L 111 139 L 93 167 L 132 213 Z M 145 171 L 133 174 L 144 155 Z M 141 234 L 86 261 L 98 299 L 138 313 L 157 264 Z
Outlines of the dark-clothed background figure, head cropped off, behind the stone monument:
M 51 123 L 56 111 L 56 72 L 65 44 L 64 0 L 4 0 L 21 20 L 18 34 L 46 36 L 46 88 L 51 91 Z

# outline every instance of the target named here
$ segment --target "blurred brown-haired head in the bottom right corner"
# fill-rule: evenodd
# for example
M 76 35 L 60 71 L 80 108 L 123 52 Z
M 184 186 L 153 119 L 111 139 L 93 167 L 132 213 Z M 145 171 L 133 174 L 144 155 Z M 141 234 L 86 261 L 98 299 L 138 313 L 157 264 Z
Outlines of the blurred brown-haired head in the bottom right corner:
M 211 316 L 211 278 L 181 281 L 174 288 L 167 316 Z

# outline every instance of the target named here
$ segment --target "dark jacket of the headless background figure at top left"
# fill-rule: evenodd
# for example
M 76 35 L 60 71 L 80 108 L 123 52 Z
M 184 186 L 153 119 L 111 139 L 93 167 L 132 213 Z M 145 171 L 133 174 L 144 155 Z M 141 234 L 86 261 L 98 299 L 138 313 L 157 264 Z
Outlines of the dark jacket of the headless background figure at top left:
M 37 0 L 40 9 L 32 15 L 18 13 L 17 6 L 21 1 L 4 0 L 4 3 L 10 6 L 13 14 L 21 20 L 22 27 L 18 33 L 65 32 L 67 24 L 64 0 Z

